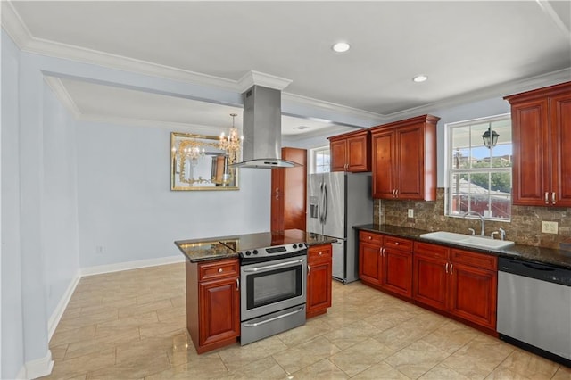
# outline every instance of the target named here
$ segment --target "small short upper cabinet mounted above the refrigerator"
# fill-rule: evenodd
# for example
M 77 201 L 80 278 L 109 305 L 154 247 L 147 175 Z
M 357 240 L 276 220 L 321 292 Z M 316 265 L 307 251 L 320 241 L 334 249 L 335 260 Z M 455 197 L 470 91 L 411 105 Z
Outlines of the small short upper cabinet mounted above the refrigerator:
M 370 138 L 368 129 L 328 137 L 331 171 L 371 171 Z

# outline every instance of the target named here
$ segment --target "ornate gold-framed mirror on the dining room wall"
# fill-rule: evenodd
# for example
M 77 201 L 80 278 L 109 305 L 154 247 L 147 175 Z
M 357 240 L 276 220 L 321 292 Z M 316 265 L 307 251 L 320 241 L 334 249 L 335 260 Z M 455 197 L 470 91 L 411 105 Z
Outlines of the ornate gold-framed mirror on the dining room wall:
M 218 137 L 170 133 L 170 190 L 238 190 L 229 163 Z

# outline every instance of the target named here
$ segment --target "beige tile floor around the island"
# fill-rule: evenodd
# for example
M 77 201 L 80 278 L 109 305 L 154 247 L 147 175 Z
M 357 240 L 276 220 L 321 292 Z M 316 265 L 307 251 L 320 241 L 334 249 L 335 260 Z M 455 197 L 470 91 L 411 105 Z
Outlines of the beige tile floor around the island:
M 46 378 L 571 379 L 571 368 L 360 282 L 334 282 L 333 307 L 305 326 L 203 355 L 185 315 L 184 264 L 84 277 Z

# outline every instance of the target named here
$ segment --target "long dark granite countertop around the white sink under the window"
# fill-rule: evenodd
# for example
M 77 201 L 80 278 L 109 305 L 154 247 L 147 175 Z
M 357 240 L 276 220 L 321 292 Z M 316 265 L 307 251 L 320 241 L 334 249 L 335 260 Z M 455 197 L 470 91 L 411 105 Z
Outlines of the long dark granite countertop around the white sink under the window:
M 534 261 L 539 263 L 556 265 L 561 268 L 571 269 L 571 252 L 564 250 L 534 247 L 532 245 L 523 245 L 523 244 L 516 244 L 509 248 L 504 248 L 501 250 L 489 250 L 482 248 L 466 247 L 461 244 L 435 242 L 434 240 L 429 240 L 420 237 L 420 235 L 426 234 L 431 231 L 425 231 L 416 228 L 377 225 L 377 224 L 354 226 L 353 228 L 369 232 L 378 232 L 385 235 L 406 237 L 412 240 L 418 240 L 419 242 L 446 245 L 452 248 L 461 248 L 475 252 L 490 253 L 496 256 L 507 257 L 509 259 Z

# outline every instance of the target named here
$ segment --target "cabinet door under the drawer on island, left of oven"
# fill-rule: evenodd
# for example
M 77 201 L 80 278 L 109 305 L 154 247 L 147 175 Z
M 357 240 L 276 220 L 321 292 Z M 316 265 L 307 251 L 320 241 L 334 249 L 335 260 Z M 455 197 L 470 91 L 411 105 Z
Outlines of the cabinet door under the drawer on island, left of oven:
M 240 335 L 237 277 L 199 284 L 200 343 L 209 345 Z

